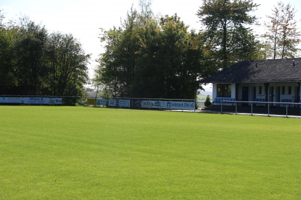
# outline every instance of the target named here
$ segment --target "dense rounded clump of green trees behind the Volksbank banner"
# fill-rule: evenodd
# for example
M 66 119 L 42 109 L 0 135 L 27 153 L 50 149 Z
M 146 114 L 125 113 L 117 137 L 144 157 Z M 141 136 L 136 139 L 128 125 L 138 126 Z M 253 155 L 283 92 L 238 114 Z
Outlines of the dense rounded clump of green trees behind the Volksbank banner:
M 177 14 L 157 20 L 131 9 L 119 28 L 101 37 L 106 45 L 96 84 L 113 96 L 194 99 L 202 74 L 198 39 Z

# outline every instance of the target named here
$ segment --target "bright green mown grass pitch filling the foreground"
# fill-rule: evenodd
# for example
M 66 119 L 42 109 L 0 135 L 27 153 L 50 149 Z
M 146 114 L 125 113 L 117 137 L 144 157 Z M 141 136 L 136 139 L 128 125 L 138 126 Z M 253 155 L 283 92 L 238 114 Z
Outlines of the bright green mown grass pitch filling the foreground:
M 300 120 L 0 106 L 0 199 L 299 199 Z

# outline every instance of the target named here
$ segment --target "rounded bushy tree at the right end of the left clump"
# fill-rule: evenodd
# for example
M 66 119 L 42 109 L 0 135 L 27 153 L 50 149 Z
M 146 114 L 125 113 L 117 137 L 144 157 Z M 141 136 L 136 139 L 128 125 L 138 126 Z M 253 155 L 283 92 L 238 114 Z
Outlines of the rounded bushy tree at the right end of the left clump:
M 82 95 L 88 81 L 87 63 L 81 44 L 72 34 L 51 33 L 47 42 L 47 88 L 50 95 Z

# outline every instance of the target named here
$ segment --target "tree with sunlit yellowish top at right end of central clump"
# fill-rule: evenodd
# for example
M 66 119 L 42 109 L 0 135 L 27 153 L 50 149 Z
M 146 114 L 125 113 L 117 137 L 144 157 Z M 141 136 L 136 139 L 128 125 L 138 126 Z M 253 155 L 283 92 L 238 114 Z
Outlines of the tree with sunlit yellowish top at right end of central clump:
M 164 75 L 165 98 L 194 99 L 200 88 L 202 47 L 197 35 L 188 32 L 188 26 L 175 14 L 161 17 L 161 36 L 158 58 Z M 158 70 L 160 71 L 160 70 Z M 161 87 L 162 87 L 161 86 Z

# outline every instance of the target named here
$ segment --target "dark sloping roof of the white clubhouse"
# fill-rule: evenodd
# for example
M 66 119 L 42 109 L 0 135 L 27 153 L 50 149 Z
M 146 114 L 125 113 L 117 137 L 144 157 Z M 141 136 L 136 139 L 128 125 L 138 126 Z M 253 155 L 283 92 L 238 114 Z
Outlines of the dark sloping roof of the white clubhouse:
M 293 61 L 295 63 L 294 65 Z M 285 58 L 240 61 L 202 82 L 239 83 L 299 81 L 301 81 L 301 58 Z

